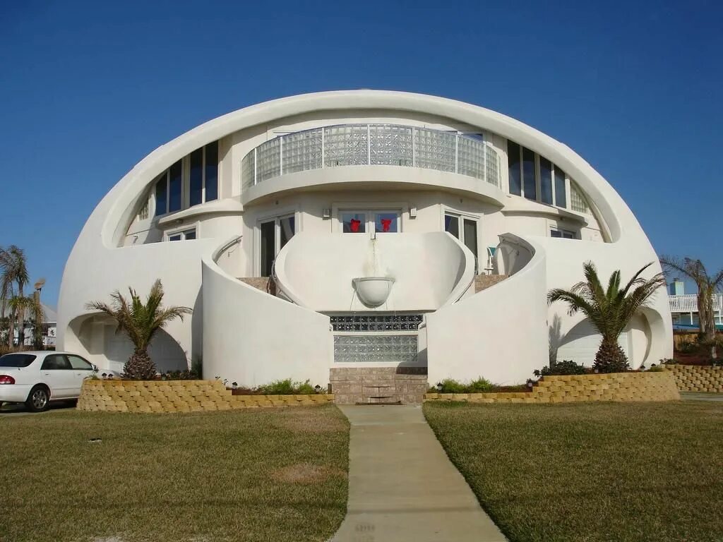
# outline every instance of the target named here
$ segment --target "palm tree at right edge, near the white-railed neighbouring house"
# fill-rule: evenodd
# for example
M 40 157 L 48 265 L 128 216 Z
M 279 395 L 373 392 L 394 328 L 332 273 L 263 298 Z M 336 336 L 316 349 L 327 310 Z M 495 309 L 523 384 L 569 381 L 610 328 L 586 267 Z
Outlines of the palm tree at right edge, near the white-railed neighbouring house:
M 660 263 L 667 272 L 683 273 L 698 287 L 698 320 L 701 322 L 703 343 L 711 346 L 711 357 L 716 358 L 716 323 L 713 318 L 713 296 L 723 288 L 723 269 L 709 275 L 699 259 L 662 256 Z M 692 323 L 692 322 L 691 322 Z

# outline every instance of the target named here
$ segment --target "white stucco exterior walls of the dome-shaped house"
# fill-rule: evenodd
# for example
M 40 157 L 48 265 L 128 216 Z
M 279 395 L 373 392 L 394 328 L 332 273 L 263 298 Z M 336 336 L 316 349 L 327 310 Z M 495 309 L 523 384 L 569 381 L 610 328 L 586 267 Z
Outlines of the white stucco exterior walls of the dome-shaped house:
M 262 142 L 317 126 L 377 122 L 484 133 L 502 160 L 500 188 L 455 173 L 366 165 L 291 173 L 241 191 L 241 160 Z M 586 194 L 594 214 L 508 195 L 507 139 L 560 166 Z M 153 217 L 155 178 L 176 160 L 215 140 L 219 141 L 220 199 Z M 145 202 L 149 217 L 140 220 L 137 212 Z M 656 261 L 645 233 L 612 187 L 568 147 L 529 126 L 483 108 L 423 95 L 378 91 L 304 95 L 203 124 L 152 152 L 108 192 L 87 220 L 66 265 L 59 300 L 59 348 L 76 350 L 99 366 L 108 366 L 105 324 L 91 320 L 85 303 L 107 300 L 111 291 L 124 291 L 128 285 L 144 293 L 155 278 L 161 278 L 167 304 L 195 309 L 193 317 L 167 329 L 188 364 L 202 353 L 208 371 L 239 384 L 292 376 L 323 379 L 322 372 L 333 364 L 330 343 L 322 339 L 329 335 L 328 329 L 321 330 L 327 317 L 307 314 L 234 278 L 257 274 L 257 223 L 262 218 L 293 212 L 297 232 L 328 235 L 337 231 L 338 209 L 382 205 L 401 209 L 404 233 L 442 231 L 445 210 L 476 218 L 480 268 L 486 267 L 487 247 L 497 246 L 500 235 L 513 233 L 520 243 L 534 246 L 534 258 L 512 278 L 428 314 L 421 335 L 427 335 L 422 358 L 428 360 L 430 381 L 445 376 L 483 376 L 498 382 L 529 377 L 531 369 L 547 363 L 551 330 L 560 334 L 562 344 L 579 322 L 568 317 L 562 306 L 547 308 L 541 300 L 549 288 L 581 280 L 582 263 L 588 259 L 599 264 L 603 277 L 615 269 L 630 276 L 643 264 Z M 410 215 L 413 207 L 416 218 Z M 332 210 L 330 219 L 322 218 L 325 209 Z M 161 242 L 168 231 L 188 227 L 197 229 L 199 240 Z M 549 238 L 551 227 L 574 231 L 579 239 Z M 201 259 L 206 261 L 203 276 Z M 649 275 L 658 270 L 656 264 Z M 425 271 L 420 267 L 416 280 L 423 280 Z M 213 296 L 210 305 L 207 296 Z M 246 323 L 239 325 L 239 319 Z M 278 344 L 274 322 L 284 322 L 288 328 L 283 345 Z M 298 333 L 292 331 L 294 322 L 300 326 Z M 316 338 L 309 342 L 305 337 Z M 633 321 L 628 337 L 634 365 L 671 355 L 672 327 L 663 293 Z M 322 350 L 317 343 L 324 344 Z M 268 369 L 261 369 L 265 364 Z

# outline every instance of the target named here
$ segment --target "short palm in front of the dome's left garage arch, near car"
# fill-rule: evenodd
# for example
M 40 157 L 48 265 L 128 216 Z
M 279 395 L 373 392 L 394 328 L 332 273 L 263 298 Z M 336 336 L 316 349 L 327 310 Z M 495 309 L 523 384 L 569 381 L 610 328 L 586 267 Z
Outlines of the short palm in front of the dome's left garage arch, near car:
M 116 333 L 124 332 L 133 343 L 134 351 L 123 367 L 123 377 L 135 380 L 155 378 L 155 364 L 148 356 L 148 345 L 156 332 L 176 318 L 181 320 L 191 309 L 185 306 L 161 307 L 163 286 L 156 280 L 150 288 L 145 304 L 133 288 L 128 288 L 130 300 L 119 291 L 111 293 L 110 305 L 100 301 L 86 304 L 86 309 L 100 311 L 116 321 Z

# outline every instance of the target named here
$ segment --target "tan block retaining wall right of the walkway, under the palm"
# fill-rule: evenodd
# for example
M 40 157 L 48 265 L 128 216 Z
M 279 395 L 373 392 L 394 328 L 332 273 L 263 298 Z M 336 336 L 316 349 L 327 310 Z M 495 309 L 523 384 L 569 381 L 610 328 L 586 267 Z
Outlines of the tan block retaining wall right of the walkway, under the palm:
M 427 393 L 424 400 L 469 403 L 669 401 L 680 400 L 680 393 L 672 374 L 662 371 L 542 377 L 531 392 Z

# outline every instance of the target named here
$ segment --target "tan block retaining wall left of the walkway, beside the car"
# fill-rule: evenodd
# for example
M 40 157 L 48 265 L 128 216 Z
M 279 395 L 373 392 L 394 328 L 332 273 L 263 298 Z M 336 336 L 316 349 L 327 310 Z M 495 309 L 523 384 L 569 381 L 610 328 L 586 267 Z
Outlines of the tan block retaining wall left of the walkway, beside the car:
M 322 405 L 334 396 L 231 395 L 218 380 L 86 380 L 79 410 L 110 412 L 205 412 L 270 406 Z

